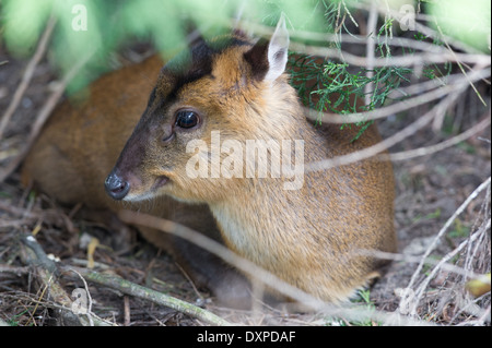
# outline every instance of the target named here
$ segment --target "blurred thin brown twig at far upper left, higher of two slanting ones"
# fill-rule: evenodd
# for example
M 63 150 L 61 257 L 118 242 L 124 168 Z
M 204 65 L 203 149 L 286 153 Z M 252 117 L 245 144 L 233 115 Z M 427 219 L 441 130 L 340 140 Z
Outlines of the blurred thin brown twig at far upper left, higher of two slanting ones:
M 36 51 L 34 52 L 33 58 L 27 63 L 24 74 L 22 75 L 21 83 L 19 84 L 17 89 L 15 89 L 12 100 L 10 101 L 9 107 L 7 108 L 5 112 L 2 116 L 2 120 L 0 122 L 0 139 L 3 137 L 5 127 L 9 123 L 10 119 L 12 118 L 12 115 L 17 108 L 19 104 L 21 103 L 22 96 L 27 89 L 31 79 L 33 77 L 34 71 L 36 70 L 37 64 L 39 63 L 40 59 L 43 58 L 46 51 L 46 47 L 48 45 L 49 38 L 51 37 L 51 33 L 52 29 L 55 28 L 56 22 L 57 21 L 54 17 L 50 17 L 48 20 L 48 23 L 46 24 L 45 32 L 43 33 L 43 36 L 39 39 L 39 44 L 37 45 Z

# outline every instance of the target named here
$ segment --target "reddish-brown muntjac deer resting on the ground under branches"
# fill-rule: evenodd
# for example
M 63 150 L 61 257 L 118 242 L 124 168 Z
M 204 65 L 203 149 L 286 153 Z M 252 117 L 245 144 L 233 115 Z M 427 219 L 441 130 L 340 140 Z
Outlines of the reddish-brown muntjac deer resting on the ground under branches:
M 155 58 L 103 76 L 82 106 L 57 109 L 24 181 L 68 204 L 152 206 L 321 300 L 348 299 L 383 265 L 362 251 L 396 250 L 391 164 L 303 170 L 380 137 L 375 124 L 353 141 L 356 130 L 306 120 L 285 73 L 288 48 L 281 20 L 269 41 L 235 32 L 199 40 L 159 76 Z M 230 304 L 247 292 L 196 247 L 143 235 Z

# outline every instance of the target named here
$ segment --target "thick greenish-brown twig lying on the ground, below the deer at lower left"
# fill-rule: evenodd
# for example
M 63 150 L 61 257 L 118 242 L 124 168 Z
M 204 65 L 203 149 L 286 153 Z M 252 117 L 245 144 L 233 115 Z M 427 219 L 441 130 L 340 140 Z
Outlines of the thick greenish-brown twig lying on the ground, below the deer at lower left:
M 67 271 L 73 271 L 73 267 L 66 267 Z M 213 324 L 213 325 L 231 325 L 227 321 L 223 320 L 222 317 L 203 310 L 199 307 L 196 307 L 194 304 L 190 304 L 188 302 L 181 301 L 179 299 L 176 299 L 174 297 L 167 296 L 165 293 L 145 288 L 143 286 L 140 286 L 138 284 L 128 281 L 121 277 L 114 276 L 114 275 L 107 275 L 102 274 L 98 272 L 94 272 L 87 268 L 77 268 L 77 271 L 87 280 L 92 283 L 96 283 L 106 287 L 109 287 L 112 289 L 119 290 L 124 293 L 134 296 L 144 300 L 149 300 L 168 308 L 172 308 L 176 311 L 183 312 L 185 314 L 188 314 L 190 316 L 197 317 L 199 320 L 202 320 L 207 323 Z

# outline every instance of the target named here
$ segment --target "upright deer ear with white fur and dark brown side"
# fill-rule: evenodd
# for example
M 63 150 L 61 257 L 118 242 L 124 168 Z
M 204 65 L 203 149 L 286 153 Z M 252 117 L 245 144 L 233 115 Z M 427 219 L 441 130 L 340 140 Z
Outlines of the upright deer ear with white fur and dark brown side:
M 273 82 L 285 71 L 288 53 L 289 32 L 282 14 L 270 41 L 259 40 L 244 57 L 254 77 Z

